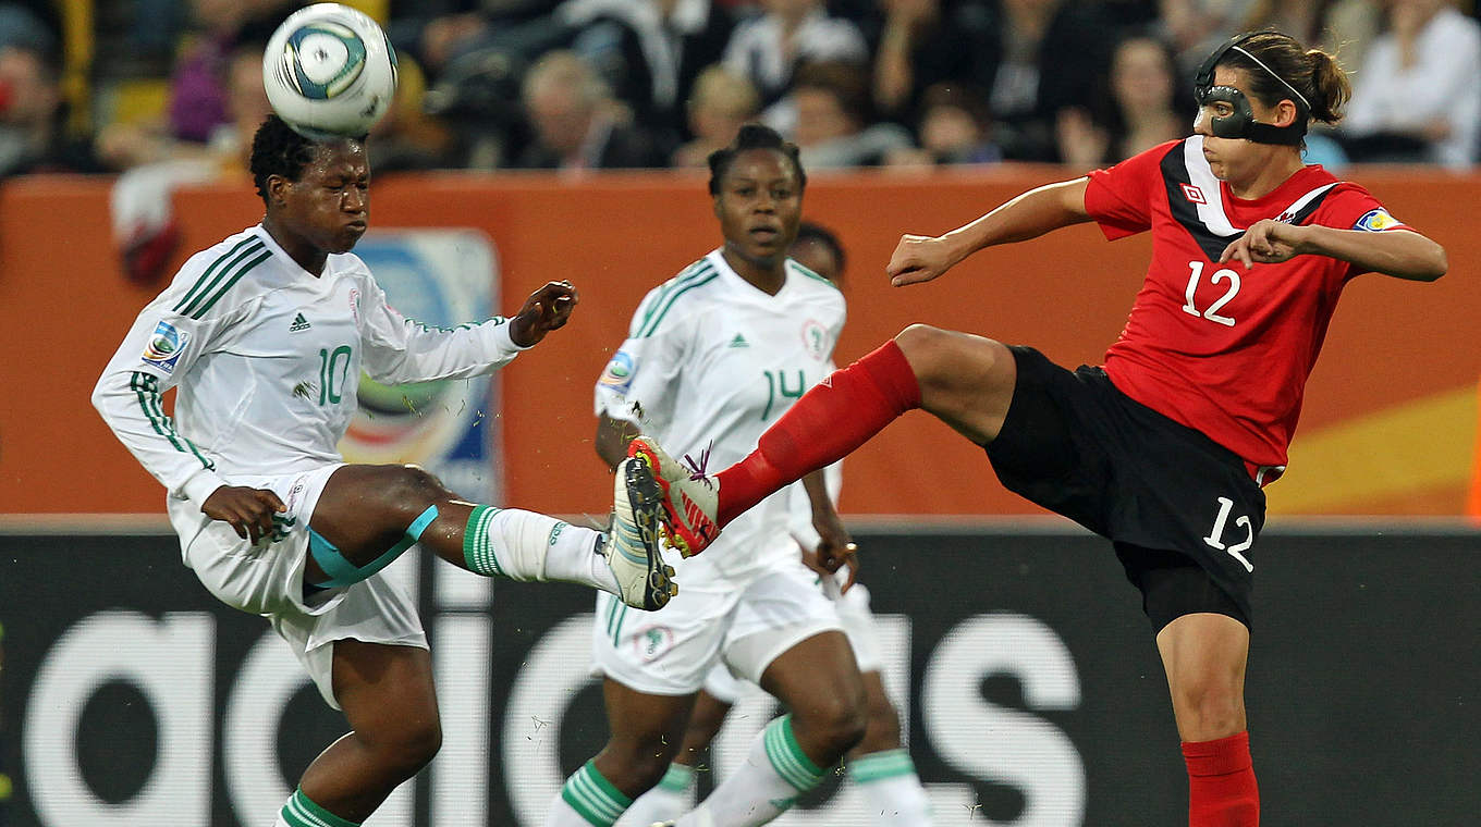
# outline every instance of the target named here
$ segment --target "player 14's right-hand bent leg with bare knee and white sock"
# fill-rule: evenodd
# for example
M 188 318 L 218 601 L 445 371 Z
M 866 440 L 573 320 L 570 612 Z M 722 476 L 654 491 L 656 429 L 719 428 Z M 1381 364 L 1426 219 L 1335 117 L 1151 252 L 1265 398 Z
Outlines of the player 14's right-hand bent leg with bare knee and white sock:
M 761 673 L 761 688 L 792 712 L 766 725 L 745 763 L 678 827 L 766 824 L 863 737 L 863 681 L 843 632 L 813 635 L 778 655 Z

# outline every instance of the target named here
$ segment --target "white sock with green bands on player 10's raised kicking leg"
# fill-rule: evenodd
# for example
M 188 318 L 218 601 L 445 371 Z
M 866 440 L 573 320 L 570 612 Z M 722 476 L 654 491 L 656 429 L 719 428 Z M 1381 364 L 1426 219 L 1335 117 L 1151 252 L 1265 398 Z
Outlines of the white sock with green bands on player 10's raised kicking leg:
M 618 592 L 607 559 L 597 553 L 601 534 L 521 509 L 477 506 L 464 527 L 464 562 L 486 577 L 566 580 Z

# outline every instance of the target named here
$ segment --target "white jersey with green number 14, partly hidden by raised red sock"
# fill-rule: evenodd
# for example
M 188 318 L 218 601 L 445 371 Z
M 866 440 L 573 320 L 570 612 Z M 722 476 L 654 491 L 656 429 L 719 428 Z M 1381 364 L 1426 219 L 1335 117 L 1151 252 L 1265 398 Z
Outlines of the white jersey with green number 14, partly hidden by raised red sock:
M 675 457 L 717 470 L 755 450 L 761 433 L 828 376 L 843 331 L 843 294 L 786 260 L 776 296 L 711 252 L 649 291 L 622 348 L 597 382 L 597 413 L 637 423 Z M 675 565 L 680 580 L 751 577 L 795 556 L 786 490 L 736 518 L 706 553 Z

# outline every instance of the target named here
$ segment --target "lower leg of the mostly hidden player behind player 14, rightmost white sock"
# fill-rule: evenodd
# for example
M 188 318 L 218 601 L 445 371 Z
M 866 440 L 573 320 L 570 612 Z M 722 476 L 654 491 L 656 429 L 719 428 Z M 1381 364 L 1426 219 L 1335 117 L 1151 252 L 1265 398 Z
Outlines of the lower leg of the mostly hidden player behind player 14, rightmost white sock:
M 863 673 L 868 725 L 844 768 L 869 802 L 880 827 L 930 827 L 930 799 L 915 774 L 911 753 L 900 744 L 900 716 L 878 672 Z

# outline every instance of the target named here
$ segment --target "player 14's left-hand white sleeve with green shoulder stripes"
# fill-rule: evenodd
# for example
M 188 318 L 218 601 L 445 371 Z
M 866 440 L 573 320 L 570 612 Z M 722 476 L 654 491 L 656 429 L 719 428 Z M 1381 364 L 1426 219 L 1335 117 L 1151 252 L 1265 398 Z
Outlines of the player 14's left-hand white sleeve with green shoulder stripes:
M 689 314 L 652 318 L 663 288 L 650 291 L 632 314 L 628 337 L 597 380 L 597 414 L 662 431 L 674 419 L 674 389 L 680 385 L 690 343 Z

